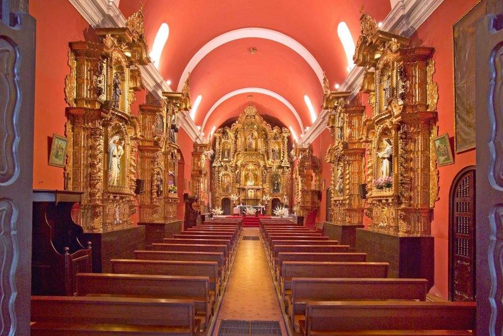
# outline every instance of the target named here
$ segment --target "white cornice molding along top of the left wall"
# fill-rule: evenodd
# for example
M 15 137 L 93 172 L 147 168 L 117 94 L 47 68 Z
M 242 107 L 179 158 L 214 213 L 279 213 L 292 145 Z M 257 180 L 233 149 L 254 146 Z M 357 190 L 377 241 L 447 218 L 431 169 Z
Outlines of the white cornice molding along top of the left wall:
M 68 0 L 80 15 L 94 28 L 125 27 L 126 18 L 117 7 L 118 1 L 109 0 Z M 162 92 L 173 91 L 167 85 L 157 68 L 152 63 L 140 67 L 141 78 L 145 88 L 157 96 L 162 97 Z M 180 113 L 179 126 L 184 128 L 192 141 L 200 138 L 200 131 L 187 112 Z

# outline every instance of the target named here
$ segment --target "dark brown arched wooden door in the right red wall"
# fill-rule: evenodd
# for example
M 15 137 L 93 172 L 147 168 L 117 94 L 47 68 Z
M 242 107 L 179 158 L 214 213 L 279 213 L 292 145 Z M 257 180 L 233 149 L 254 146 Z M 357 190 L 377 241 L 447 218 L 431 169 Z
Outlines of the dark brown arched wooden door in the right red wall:
M 450 192 L 450 297 L 475 300 L 475 169 L 463 169 Z

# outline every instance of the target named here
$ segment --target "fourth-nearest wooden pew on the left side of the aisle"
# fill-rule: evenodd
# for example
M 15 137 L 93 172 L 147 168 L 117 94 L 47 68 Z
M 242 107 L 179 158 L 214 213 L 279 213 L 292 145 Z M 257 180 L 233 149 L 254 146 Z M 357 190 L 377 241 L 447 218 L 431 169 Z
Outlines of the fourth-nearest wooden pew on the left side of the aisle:
M 223 252 L 137 250 L 134 255 L 140 260 L 216 261 L 220 278 L 224 279 L 228 273 Z

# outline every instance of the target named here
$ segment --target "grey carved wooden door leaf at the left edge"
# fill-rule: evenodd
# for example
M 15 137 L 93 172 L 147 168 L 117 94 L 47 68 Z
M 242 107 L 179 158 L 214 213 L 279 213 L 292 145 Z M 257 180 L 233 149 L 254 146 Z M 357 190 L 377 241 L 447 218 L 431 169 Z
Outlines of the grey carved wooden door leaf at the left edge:
M 35 20 L 0 4 L 0 334 L 29 335 Z

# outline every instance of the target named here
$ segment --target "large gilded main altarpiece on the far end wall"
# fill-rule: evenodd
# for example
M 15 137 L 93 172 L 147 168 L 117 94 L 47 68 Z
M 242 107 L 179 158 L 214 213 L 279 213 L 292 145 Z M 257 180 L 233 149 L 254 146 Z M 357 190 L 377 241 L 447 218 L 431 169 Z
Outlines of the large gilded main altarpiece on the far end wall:
M 250 103 L 231 127 L 215 131 L 212 164 L 212 204 L 238 196 L 236 204 L 264 205 L 271 214 L 272 201 L 288 205 L 291 168 L 288 157 L 290 131 L 272 127 Z

